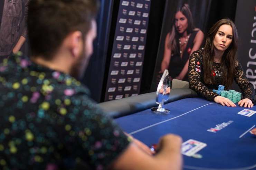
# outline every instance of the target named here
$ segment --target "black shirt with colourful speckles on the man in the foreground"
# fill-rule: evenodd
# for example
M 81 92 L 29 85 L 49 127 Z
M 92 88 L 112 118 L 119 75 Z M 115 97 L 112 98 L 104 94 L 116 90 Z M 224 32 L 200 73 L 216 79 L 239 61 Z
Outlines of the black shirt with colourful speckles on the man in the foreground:
M 106 169 L 130 139 L 75 78 L 12 56 L 0 66 L 0 169 Z

